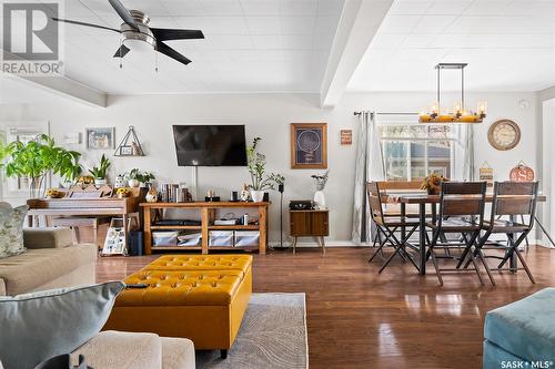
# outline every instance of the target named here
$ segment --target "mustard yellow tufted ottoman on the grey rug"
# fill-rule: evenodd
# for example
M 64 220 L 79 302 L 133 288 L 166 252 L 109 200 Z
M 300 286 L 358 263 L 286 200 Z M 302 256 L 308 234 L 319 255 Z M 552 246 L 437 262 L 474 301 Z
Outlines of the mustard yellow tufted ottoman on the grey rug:
M 124 290 L 104 330 L 185 337 L 225 358 L 251 297 L 252 256 L 162 256 L 125 283 L 149 287 Z

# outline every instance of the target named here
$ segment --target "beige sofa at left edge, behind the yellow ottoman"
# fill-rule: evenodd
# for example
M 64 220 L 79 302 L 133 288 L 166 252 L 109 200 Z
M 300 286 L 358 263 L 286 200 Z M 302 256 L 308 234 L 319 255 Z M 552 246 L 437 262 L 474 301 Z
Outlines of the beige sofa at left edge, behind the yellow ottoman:
M 26 228 L 27 252 L 0 259 L 0 296 L 93 284 L 97 245 L 74 245 L 69 228 Z

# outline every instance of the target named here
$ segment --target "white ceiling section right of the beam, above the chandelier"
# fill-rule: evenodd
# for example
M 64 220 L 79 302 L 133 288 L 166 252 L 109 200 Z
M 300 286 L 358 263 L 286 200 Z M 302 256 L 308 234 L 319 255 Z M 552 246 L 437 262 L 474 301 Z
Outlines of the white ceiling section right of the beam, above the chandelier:
M 554 85 L 555 0 L 395 0 L 347 91 L 431 91 L 438 62 L 468 63 L 470 90 Z

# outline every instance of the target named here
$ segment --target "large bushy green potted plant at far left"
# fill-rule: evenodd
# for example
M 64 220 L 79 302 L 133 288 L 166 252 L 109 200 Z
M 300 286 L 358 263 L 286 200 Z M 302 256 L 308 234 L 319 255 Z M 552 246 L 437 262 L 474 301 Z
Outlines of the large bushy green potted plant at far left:
M 58 174 L 65 180 L 73 180 L 81 173 L 80 153 L 57 146 L 54 140 L 40 134 L 34 141 L 22 143 L 14 141 L 0 148 L 8 177 L 28 177 L 29 196 L 42 196 L 44 180 L 49 173 Z

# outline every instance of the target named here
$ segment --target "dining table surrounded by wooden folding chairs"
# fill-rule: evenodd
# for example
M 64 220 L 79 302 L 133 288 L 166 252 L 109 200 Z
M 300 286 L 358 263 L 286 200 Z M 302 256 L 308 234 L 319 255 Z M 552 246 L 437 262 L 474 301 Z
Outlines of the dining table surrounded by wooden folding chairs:
M 486 194 L 485 196 L 485 202 L 486 203 L 492 203 L 493 202 L 493 194 Z M 507 196 L 504 196 L 504 197 L 507 197 Z M 517 195 L 514 196 L 515 199 L 518 198 Z M 547 201 L 547 197 L 545 195 L 538 195 L 537 196 L 537 201 L 541 202 L 541 203 L 544 203 Z M 406 213 L 406 205 L 418 205 L 418 223 L 420 223 L 420 226 L 418 226 L 418 254 L 420 254 L 420 263 L 417 264 L 418 266 L 418 274 L 420 275 L 425 275 L 426 274 L 426 260 L 427 260 L 427 257 L 426 257 L 426 218 L 430 218 L 428 215 L 432 216 L 432 221 L 435 221 L 435 217 L 436 217 L 436 207 L 437 207 L 437 204 L 440 204 L 441 202 L 441 196 L 440 195 L 430 195 L 430 194 L 402 194 L 402 195 L 398 195 L 396 196 L 396 199 L 395 202 L 400 203 L 401 204 L 401 215 L 402 216 L 405 216 L 405 213 Z M 426 214 L 426 205 L 430 205 L 431 206 L 431 214 L 427 213 Z M 516 218 L 515 216 L 511 216 L 511 221 L 512 222 L 516 222 Z M 553 239 L 551 238 L 549 234 L 547 233 L 547 230 L 543 227 L 543 225 L 537 222 L 537 218 L 536 219 L 536 223 L 541 226 L 542 230 L 546 234 L 546 236 L 549 238 L 549 242 L 552 244 L 553 243 Z M 513 255 L 512 259 L 511 259 L 511 267 L 514 267 L 516 265 L 516 256 Z

